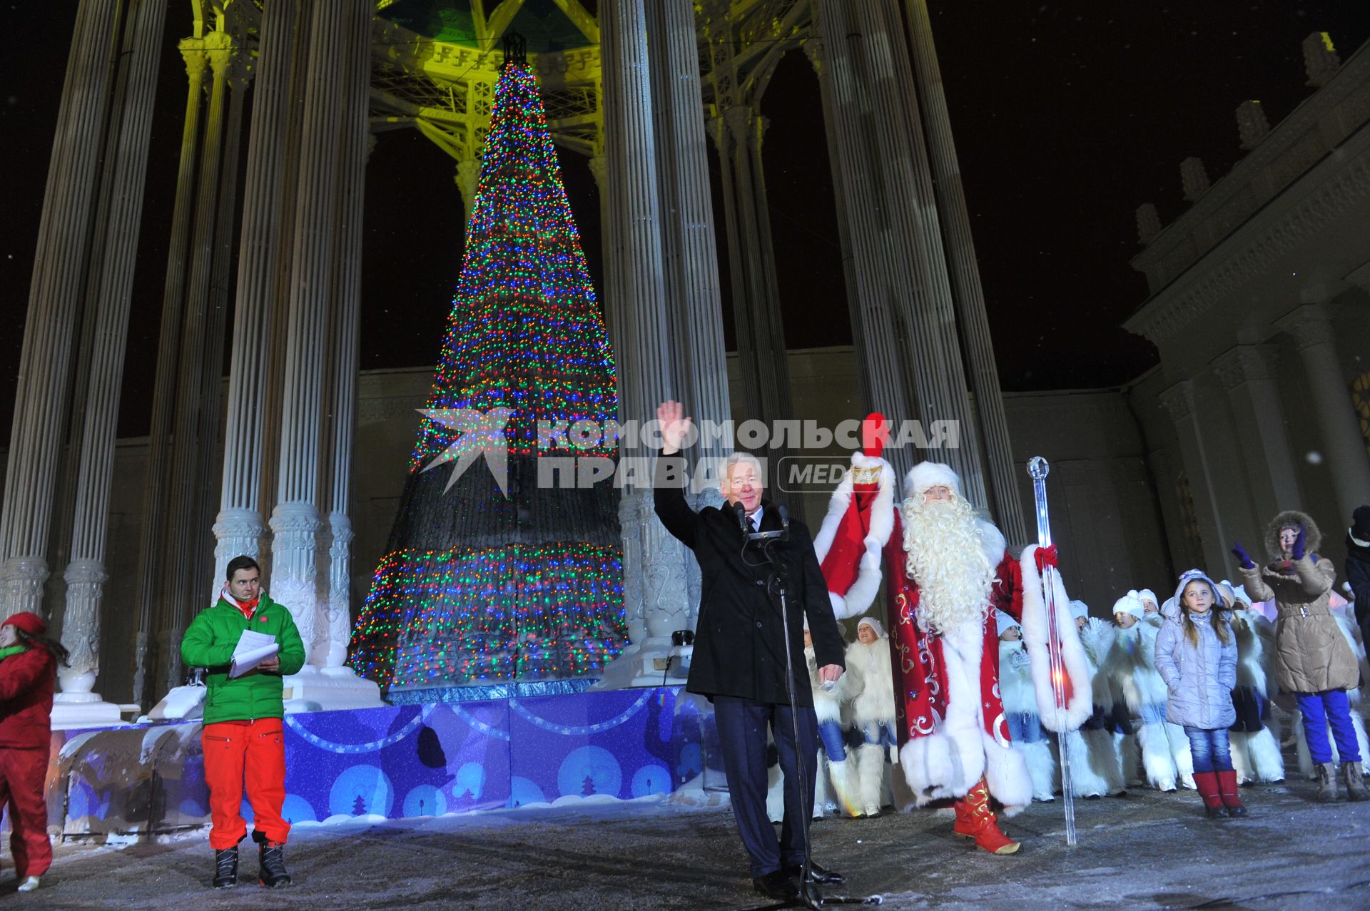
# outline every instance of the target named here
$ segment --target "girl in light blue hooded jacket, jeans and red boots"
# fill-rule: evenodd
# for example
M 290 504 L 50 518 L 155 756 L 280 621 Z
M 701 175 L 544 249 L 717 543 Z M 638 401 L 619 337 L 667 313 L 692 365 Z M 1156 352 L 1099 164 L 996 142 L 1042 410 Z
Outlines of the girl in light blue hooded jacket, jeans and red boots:
M 1218 586 L 1201 570 L 1188 570 L 1175 589 L 1175 607 L 1156 636 L 1156 671 L 1166 681 L 1166 721 L 1189 737 L 1195 786 L 1208 818 L 1245 816 L 1237 796 L 1228 727 L 1237 721 L 1237 637 Z

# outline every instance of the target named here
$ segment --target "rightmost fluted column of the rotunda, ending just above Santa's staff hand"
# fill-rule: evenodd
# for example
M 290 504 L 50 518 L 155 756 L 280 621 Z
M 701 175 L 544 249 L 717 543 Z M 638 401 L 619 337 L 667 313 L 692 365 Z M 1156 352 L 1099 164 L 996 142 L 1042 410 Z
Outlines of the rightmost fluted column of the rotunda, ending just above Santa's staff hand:
M 995 345 L 989 336 L 989 319 L 985 315 L 985 292 L 980 284 L 975 240 L 970 230 L 970 212 L 966 208 L 966 193 L 960 182 L 960 163 L 956 159 L 951 115 L 947 111 L 947 96 L 943 92 L 937 48 L 933 44 L 933 29 L 927 16 L 927 0 L 906 0 L 906 7 L 908 10 L 914 75 L 918 79 L 917 101 L 922 110 L 923 127 L 927 130 L 937 216 L 943 227 L 947 267 L 951 274 L 970 390 L 975 396 L 975 427 L 984 448 L 984 466 L 991 495 L 986 506 L 993 512 L 999 529 L 1011 542 L 1026 544 L 1029 529 L 1022 503 L 1018 499 L 1008 421 L 1004 416 L 1004 399 L 999 388 L 999 367 L 995 363 Z

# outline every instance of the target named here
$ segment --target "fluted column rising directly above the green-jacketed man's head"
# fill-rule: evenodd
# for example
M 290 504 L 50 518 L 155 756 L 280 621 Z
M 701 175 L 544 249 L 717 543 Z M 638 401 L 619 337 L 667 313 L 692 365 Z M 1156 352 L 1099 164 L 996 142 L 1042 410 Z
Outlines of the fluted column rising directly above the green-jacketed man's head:
M 242 230 L 238 240 L 237 303 L 229 367 L 229 415 L 223 481 L 214 523 L 214 579 L 236 556 L 262 558 L 262 434 L 266 425 L 266 370 L 275 314 L 281 253 L 284 173 L 290 114 L 290 59 L 299 3 L 274 0 L 262 10 L 256 95 L 248 141 Z

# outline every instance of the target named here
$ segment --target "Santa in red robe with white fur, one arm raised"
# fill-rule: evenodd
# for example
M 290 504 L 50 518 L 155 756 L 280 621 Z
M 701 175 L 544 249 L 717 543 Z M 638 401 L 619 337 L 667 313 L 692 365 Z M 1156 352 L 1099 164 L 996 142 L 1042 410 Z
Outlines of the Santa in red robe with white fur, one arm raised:
M 1069 730 L 1091 714 L 1089 667 L 1059 573 L 1047 574 L 1060 607 L 1052 681 L 1041 569 L 1055 566 L 1055 551 L 1033 545 L 1012 556 L 1004 536 L 975 516 L 949 466 L 919 463 L 903 493 L 896 507 L 893 471 L 880 458 L 878 434 L 867 433 L 814 549 L 840 618 L 866 612 L 884 563 L 899 759 L 917 803 L 954 800 L 955 834 L 1012 853 L 1018 843 L 1000 832 L 991 797 L 1012 815 L 1032 803 L 1033 785 L 999 696 L 993 608 L 1023 627 L 1043 725 Z

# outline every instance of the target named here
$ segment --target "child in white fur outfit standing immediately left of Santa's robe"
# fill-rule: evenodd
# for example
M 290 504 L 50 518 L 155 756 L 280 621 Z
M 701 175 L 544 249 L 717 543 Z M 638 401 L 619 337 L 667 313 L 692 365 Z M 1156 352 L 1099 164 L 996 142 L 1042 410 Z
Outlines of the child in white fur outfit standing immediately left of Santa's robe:
M 847 647 L 847 673 L 843 677 L 851 678 L 851 718 L 863 741 L 856 748 L 852 799 L 864 815 L 878 816 L 886 760 L 897 744 L 889 637 L 880 621 L 863 616 L 856 625 L 856 641 Z

